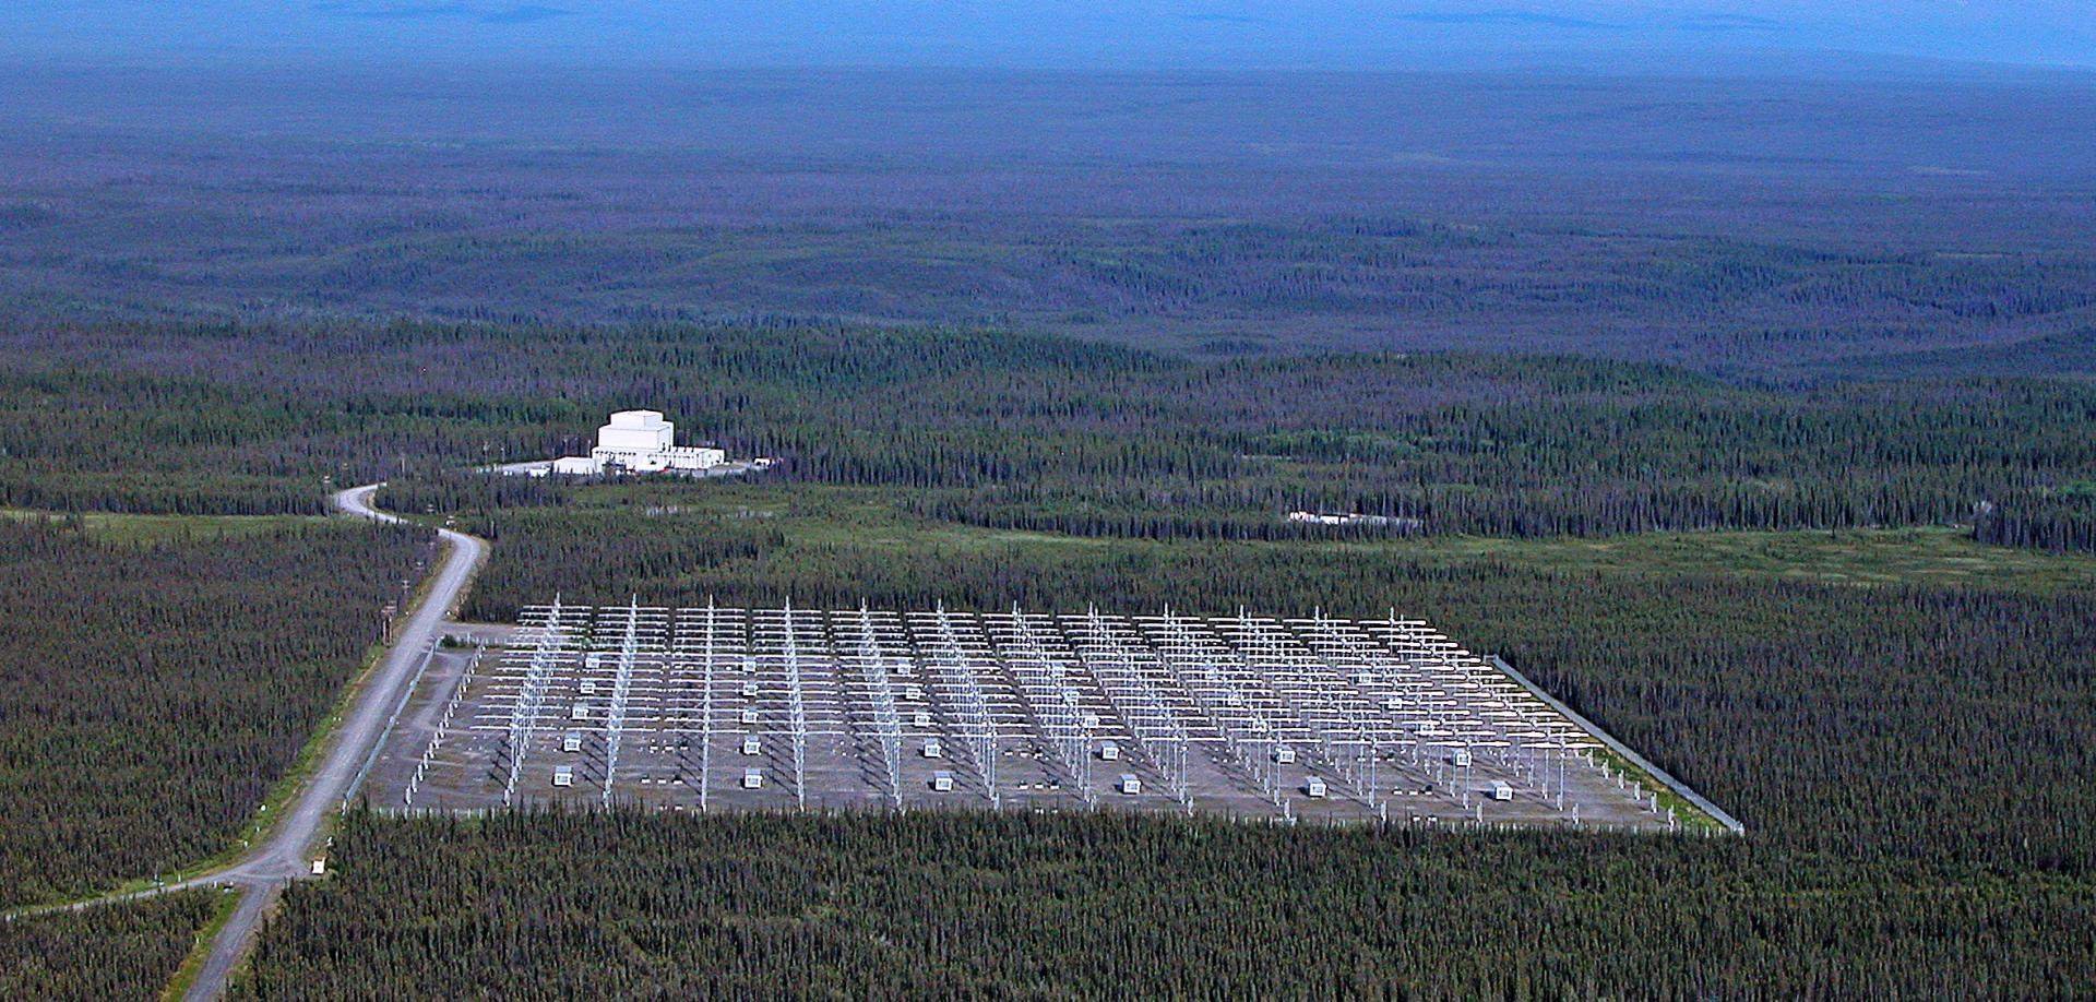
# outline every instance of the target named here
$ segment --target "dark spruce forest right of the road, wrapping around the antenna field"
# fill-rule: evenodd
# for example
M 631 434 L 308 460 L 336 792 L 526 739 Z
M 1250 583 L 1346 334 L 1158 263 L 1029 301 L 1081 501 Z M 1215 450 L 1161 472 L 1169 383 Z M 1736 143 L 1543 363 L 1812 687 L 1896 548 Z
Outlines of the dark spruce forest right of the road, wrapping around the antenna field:
M 361 818 L 337 878 L 289 893 L 252 989 L 2096 989 L 2096 593 L 1538 574 L 1243 547 L 1069 547 L 1086 553 L 1063 560 L 1023 547 L 926 560 L 782 551 L 727 558 L 679 589 L 759 602 L 790 583 L 809 602 L 864 589 L 876 602 L 994 604 L 1029 587 L 1065 608 L 1100 593 L 1123 608 L 1320 595 L 1346 612 L 1421 610 L 1606 721 L 1740 815 L 1748 836 L 1113 815 Z M 742 585 L 740 568 L 757 581 Z

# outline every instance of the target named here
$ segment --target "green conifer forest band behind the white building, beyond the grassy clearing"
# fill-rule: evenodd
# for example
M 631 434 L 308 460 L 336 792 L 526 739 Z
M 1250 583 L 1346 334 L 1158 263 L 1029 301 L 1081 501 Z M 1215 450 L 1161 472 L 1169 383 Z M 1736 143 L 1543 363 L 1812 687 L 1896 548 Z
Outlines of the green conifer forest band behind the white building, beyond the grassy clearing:
M 1383 532 L 1511 537 L 1981 520 L 1985 539 L 2075 547 L 2096 518 L 2081 382 L 1775 388 L 1471 354 L 1195 363 L 836 325 L 149 325 L 34 344 L 34 363 L 0 373 L 15 457 L 0 503 L 46 509 L 316 511 L 323 478 L 381 476 L 421 484 L 402 501 L 455 507 L 440 495 L 524 491 L 461 467 L 587 451 L 604 413 L 648 400 L 780 457 L 776 478 L 1098 537 L 1302 539 L 1329 530 L 1283 516 L 1320 509 L 1392 518 Z M 78 413 L 109 434 L 69 436 Z

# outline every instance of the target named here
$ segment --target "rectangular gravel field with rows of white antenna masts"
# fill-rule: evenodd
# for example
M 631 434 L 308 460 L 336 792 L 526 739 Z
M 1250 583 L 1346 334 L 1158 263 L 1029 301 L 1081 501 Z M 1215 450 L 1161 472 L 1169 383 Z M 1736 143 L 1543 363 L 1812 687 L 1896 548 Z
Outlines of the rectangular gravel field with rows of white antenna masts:
M 1587 721 L 1396 614 L 551 602 L 432 658 L 375 803 L 1683 822 Z

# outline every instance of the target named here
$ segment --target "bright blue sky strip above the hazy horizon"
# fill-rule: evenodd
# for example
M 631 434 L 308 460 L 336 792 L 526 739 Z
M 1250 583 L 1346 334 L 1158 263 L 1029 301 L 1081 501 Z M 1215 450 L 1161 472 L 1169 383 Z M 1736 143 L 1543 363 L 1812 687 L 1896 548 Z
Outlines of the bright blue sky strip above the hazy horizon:
M 1861 52 L 2096 67 L 2096 0 L 8 0 L 0 59 L 1417 69 Z

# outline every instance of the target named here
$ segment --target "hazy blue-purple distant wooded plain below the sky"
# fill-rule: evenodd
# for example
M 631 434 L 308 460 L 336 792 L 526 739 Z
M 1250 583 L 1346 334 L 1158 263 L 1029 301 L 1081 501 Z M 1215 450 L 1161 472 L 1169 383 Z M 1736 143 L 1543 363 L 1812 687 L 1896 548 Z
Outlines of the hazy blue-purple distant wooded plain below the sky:
M 1993 371 L 2096 325 L 2096 86 L 1924 69 L 13 67 L 0 304 Z

